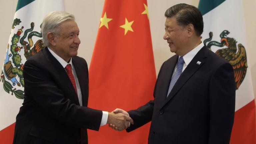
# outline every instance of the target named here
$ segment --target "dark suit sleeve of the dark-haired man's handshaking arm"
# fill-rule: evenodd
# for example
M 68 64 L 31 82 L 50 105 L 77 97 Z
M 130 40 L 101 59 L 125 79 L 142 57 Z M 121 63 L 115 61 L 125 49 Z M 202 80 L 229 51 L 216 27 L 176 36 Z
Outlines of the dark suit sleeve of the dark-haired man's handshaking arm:
M 162 67 L 163 67 L 164 63 L 162 64 L 160 71 L 158 73 L 158 77 L 161 73 Z M 156 84 L 155 84 L 155 88 L 154 88 L 154 98 L 155 96 L 155 91 L 156 91 L 156 86 L 157 86 L 157 81 L 156 80 Z M 141 126 L 143 126 L 144 124 L 148 123 L 151 121 L 152 119 L 152 115 L 153 115 L 153 110 L 154 110 L 154 100 L 149 101 L 148 103 L 146 103 L 145 105 L 139 107 L 136 110 L 131 110 L 128 111 L 129 116 L 133 119 L 134 124 L 130 127 L 128 127 L 126 129 L 127 132 L 133 131 Z

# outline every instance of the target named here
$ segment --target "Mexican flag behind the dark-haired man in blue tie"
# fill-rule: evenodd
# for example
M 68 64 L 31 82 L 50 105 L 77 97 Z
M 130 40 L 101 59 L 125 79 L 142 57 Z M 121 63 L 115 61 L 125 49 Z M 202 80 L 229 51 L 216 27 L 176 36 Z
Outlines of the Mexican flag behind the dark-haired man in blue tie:
M 236 107 L 230 144 L 255 144 L 255 101 L 242 0 L 200 0 L 198 8 L 204 19 L 202 41 L 234 69 Z

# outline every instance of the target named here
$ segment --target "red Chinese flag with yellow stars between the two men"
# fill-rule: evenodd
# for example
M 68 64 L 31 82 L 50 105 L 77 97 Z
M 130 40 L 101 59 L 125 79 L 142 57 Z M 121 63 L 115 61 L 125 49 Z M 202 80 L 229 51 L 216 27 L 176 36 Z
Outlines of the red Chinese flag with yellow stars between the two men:
M 154 99 L 155 81 L 147 1 L 105 0 L 89 69 L 89 107 L 136 109 Z M 102 126 L 88 130 L 89 143 L 145 144 L 149 126 L 130 133 Z

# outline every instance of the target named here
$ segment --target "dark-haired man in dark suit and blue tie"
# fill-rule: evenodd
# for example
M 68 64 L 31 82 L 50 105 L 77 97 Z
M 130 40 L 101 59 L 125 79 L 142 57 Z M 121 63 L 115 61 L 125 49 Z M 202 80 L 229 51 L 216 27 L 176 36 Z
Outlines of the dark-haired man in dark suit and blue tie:
M 229 144 L 235 112 L 233 68 L 202 43 L 203 17 L 196 7 L 177 4 L 165 16 L 164 40 L 176 55 L 161 66 L 154 100 L 128 113 L 114 112 L 134 120 L 127 132 L 151 121 L 149 144 Z

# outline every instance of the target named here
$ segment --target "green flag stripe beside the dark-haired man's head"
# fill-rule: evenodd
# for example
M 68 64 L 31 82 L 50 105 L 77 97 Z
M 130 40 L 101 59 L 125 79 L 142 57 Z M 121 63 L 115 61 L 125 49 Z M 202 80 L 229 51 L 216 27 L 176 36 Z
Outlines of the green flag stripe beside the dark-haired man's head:
M 201 11 L 202 15 L 208 13 L 212 9 L 216 8 L 218 5 L 223 3 L 225 0 L 200 0 L 198 9 Z

